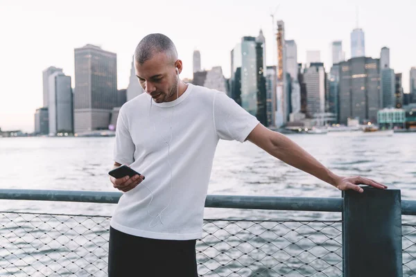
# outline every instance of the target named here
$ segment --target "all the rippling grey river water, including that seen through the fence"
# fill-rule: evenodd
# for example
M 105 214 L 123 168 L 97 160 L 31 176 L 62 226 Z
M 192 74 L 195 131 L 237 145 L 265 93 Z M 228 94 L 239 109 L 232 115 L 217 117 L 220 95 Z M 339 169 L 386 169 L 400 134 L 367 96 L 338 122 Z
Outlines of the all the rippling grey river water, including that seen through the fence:
M 402 199 L 416 199 L 416 133 L 379 137 L 291 134 L 288 137 L 338 175 L 369 177 L 389 188 L 400 189 Z M 114 137 L 0 139 L 0 188 L 116 191 L 112 188 L 107 176 L 113 164 L 113 145 Z M 218 143 L 208 193 L 340 197 L 340 191 L 336 188 L 271 157 L 256 145 L 235 141 Z M 0 200 L 0 211 L 31 213 L 112 215 L 115 206 L 114 204 Z M 340 213 L 206 208 L 205 217 L 228 220 L 284 220 L 285 222 L 253 224 L 252 222 L 207 221 L 204 227 L 205 238 L 197 245 L 200 276 L 252 276 L 256 273 L 259 276 L 311 276 L 314 272 L 318 272 L 318 269 L 324 270 L 322 272 L 325 274 L 322 276 L 342 274 L 340 222 L 333 224 L 287 223 L 291 220 L 338 221 L 341 219 Z M 404 217 L 404 220 L 413 224 L 416 222 L 413 217 Z M 103 223 L 96 224 L 97 221 Z M 28 225 L 17 227 L 19 222 Z M 4 273 L 6 276 L 61 276 L 51 271 L 55 270 L 63 272 L 64 275 L 70 275 L 69 267 L 62 267 L 62 265 L 72 261 L 69 265 L 73 265 L 72 272 L 76 272 L 73 276 L 105 276 L 106 251 L 100 251 L 101 248 L 97 249 L 96 244 L 102 241 L 104 249 L 107 247 L 105 227 L 108 219 L 103 220 L 103 217 L 97 217 L 97 220 L 94 220 L 94 218 L 49 217 L 48 215 L 15 217 L 15 215 L 6 214 L 0 224 L 3 224 L 3 229 L 0 229 L 0 242 L 4 247 L 3 251 L 0 251 L 0 257 L 6 255 L 6 260 L 0 262 L 1 274 Z M 79 233 L 67 233 L 69 226 L 73 228 L 71 229 L 73 231 L 80 229 Z M 99 228 L 95 230 L 97 226 Z M 93 231 L 88 233 L 86 227 Z M 408 229 L 409 233 L 415 233 L 412 226 Z M 317 233 L 317 230 L 323 230 L 323 233 L 322 231 Z M 39 237 L 36 233 L 40 233 Z M 214 235 L 209 235 L 209 233 L 214 233 Z M 234 235 L 229 236 L 230 233 Z M 256 233 L 261 236 L 255 236 Z M 16 236 L 19 236 L 21 241 L 17 241 Z M 90 241 L 94 241 L 91 245 L 85 240 L 89 236 L 92 236 Z M 333 239 L 329 240 L 329 238 Z M 412 235 L 411 240 L 416 240 L 415 235 Z M 53 243 L 58 241 L 60 244 L 55 246 Z M 72 258 L 69 254 L 75 252 L 71 252 L 71 242 L 78 243 L 73 247 L 78 251 L 78 256 Z M 296 242 L 296 244 L 288 242 Z M 320 242 L 326 246 L 324 248 L 317 246 Z M 27 256 L 19 245 L 25 248 L 29 247 L 29 244 L 30 247 L 44 250 L 40 251 L 42 253 L 37 253 L 33 249 L 26 249 L 26 252 L 32 253 L 31 256 Z M 83 244 L 84 247 L 80 249 L 80 245 Z M 214 247 L 209 245 L 214 245 Z M 257 245 L 262 247 L 261 251 L 255 249 Z M 409 245 L 413 247 L 412 242 L 409 242 Z M 404 249 L 406 247 L 404 240 Z M 413 248 L 408 249 L 408 252 L 415 256 L 416 249 Z M 303 257 L 306 255 L 304 249 L 310 249 L 307 253 L 312 255 Z M 8 251 L 15 251 L 14 256 Z M 225 251 L 226 254 L 222 254 L 221 251 Z M 46 258 L 44 253 L 47 253 Z M 27 260 L 37 257 L 37 254 L 40 259 L 46 260 L 43 262 Z M 90 257 L 92 262 L 83 267 L 83 263 L 89 261 L 88 255 L 92 254 L 94 254 Z M 98 260 L 97 256 L 99 256 Z M 326 261 L 318 264 L 316 260 L 318 256 L 324 256 Z M 411 276 L 414 271 L 416 272 L 416 264 L 412 262 L 413 256 L 404 256 L 404 262 L 408 265 L 405 268 L 407 272 L 405 276 Z M 258 257 L 261 257 L 260 261 L 256 262 Z M 26 263 L 23 263 L 21 267 L 19 267 L 19 261 L 22 261 L 19 260 L 20 258 L 26 259 Z M 233 258 L 238 262 L 233 261 Z M 53 262 L 53 260 L 59 262 Z M 284 262 L 279 262 L 279 260 Z M 407 263 L 408 261 L 410 263 Z M 308 262 L 315 262 L 315 264 L 308 265 Z M 45 267 L 44 265 L 48 263 L 49 267 Z M 268 263 L 270 267 L 273 267 L 272 269 L 267 269 Z M 94 271 L 98 267 L 101 270 Z M 22 273 L 21 268 L 28 271 Z M 296 270 L 294 271 L 293 268 Z M 234 270 L 238 273 L 233 275 Z

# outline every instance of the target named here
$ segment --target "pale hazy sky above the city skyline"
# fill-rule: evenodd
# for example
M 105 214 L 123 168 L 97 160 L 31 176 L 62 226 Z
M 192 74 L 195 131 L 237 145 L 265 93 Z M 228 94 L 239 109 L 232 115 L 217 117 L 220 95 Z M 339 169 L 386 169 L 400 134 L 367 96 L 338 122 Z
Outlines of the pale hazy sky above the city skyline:
M 358 14 L 365 54 L 376 58 L 389 47 L 390 67 L 403 73 L 408 92 L 410 67 L 416 66 L 415 10 L 415 0 L 0 0 L 0 128 L 33 132 L 35 110 L 43 102 L 42 71 L 57 66 L 73 77 L 73 49 L 85 44 L 117 54 L 119 89 L 127 88 L 135 47 L 149 33 L 173 40 L 184 64 L 182 79 L 192 78 L 195 49 L 202 68 L 222 66 L 229 78 L 230 51 L 260 29 L 267 64 L 273 65 L 271 14 L 284 20 L 285 39 L 295 40 L 298 62 L 306 62 L 306 51 L 319 50 L 327 71 L 334 40 L 342 40 L 351 57 Z

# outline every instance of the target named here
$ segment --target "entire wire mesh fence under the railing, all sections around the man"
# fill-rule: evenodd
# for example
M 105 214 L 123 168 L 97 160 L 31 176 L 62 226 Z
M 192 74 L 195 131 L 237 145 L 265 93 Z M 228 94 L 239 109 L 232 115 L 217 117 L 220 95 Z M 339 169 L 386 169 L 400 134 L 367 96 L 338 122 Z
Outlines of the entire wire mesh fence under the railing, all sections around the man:
M 0 276 L 107 276 L 110 217 L 0 212 Z M 342 276 L 342 222 L 205 220 L 199 276 Z M 403 225 L 404 276 L 416 226 Z

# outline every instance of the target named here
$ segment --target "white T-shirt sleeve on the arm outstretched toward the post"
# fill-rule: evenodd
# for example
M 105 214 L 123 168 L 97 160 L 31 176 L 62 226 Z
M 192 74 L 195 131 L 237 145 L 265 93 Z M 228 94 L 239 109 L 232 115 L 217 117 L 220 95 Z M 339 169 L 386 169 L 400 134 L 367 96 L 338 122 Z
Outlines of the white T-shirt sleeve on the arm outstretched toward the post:
M 259 120 L 245 111 L 225 93 L 214 96 L 214 125 L 220 139 L 240 141 L 243 143 Z

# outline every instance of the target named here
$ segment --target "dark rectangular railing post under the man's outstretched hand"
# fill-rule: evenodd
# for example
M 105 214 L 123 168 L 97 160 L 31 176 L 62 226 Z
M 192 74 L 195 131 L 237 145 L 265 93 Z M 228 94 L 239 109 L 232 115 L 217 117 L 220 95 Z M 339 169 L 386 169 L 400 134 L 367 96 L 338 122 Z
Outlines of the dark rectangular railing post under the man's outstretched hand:
M 344 193 L 345 277 L 403 276 L 400 190 Z

